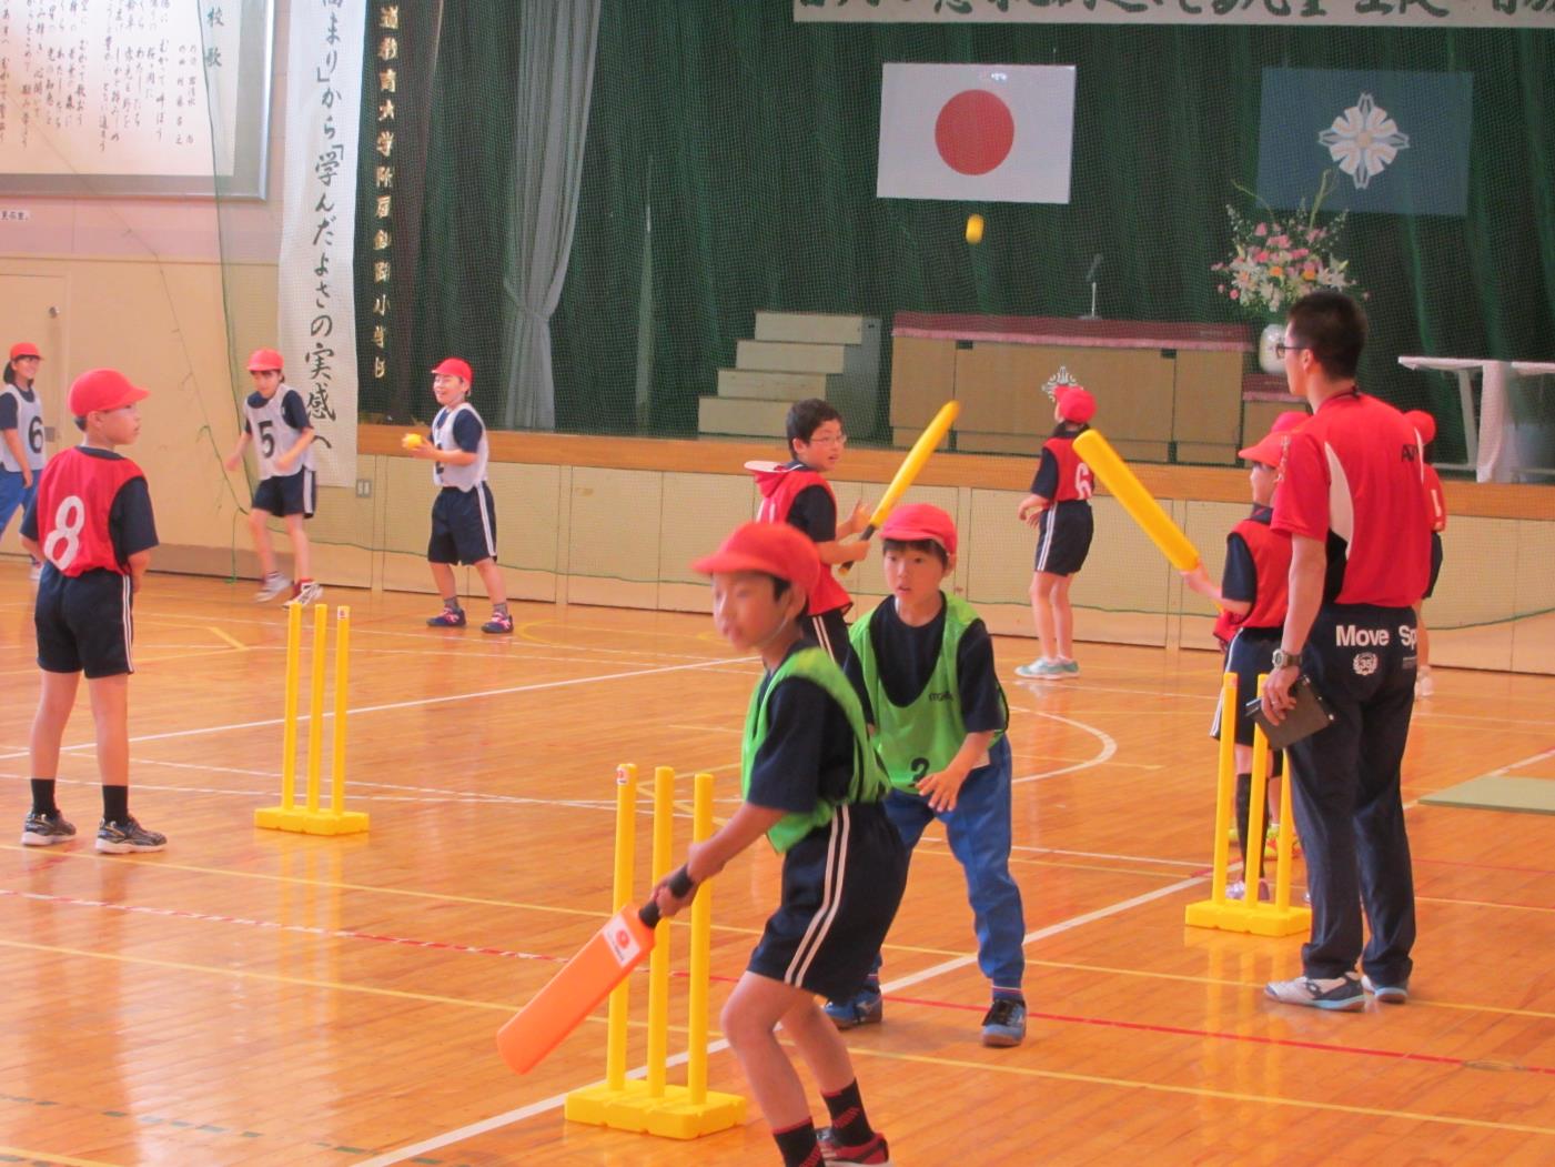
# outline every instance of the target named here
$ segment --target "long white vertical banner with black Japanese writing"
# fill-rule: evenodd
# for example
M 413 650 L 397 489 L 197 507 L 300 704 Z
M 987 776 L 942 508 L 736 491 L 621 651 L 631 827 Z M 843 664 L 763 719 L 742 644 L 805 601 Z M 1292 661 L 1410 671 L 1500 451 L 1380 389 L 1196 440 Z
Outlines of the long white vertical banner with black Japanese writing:
M 322 485 L 356 482 L 356 148 L 367 0 L 292 0 L 277 330 Z

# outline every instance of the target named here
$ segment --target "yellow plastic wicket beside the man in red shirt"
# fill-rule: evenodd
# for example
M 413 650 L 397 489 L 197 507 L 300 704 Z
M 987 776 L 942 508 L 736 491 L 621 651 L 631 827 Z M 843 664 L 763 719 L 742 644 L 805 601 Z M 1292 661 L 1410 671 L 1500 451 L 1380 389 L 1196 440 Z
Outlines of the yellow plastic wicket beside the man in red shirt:
M 1263 692 L 1264 678 L 1258 678 Z M 1247 867 L 1242 870 L 1242 898 L 1227 899 L 1227 868 L 1232 860 L 1232 817 L 1236 814 L 1236 674 L 1221 678 L 1221 762 L 1214 787 L 1214 873 L 1210 879 L 1210 898 L 1188 904 L 1183 921 L 1191 927 L 1218 927 L 1222 932 L 1250 932 L 1260 937 L 1291 937 L 1312 926 L 1312 909 L 1291 906 L 1291 842 L 1294 818 L 1291 815 L 1291 755 L 1284 758 L 1284 781 L 1280 783 L 1280 842 L 1274 857 L 1274 902 L 1258 898 L 1258 881 L 1263 874 L 1263 846 L 1247 848 Z M 1253 727 L 1253 783 L 1247 806 L 1247 837 L 1264 837 L 1264 792 L 1269 786 L 1269 739 L 1261 728 Z

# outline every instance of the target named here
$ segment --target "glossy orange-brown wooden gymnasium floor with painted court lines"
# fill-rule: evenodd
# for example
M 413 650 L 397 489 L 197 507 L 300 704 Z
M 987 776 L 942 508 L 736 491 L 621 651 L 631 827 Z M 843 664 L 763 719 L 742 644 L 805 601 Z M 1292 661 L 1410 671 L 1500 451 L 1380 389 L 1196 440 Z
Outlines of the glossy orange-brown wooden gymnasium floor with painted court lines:
M 519 635 L 491 640 L 420 627 L 426 598 L 331 591 L 353 608 L 350 806 L 372 831 L 277 834 L 252 815 L 280 786 L 285 613 L 249 593 L 154 576 L 138 602 L 131 806 L 168 850 L 93 853 L 82 697 L 59 786 L 81 840 L 42 851 L 17 843 L 30 604 L 0 566 L 0 1162 L 774 1162 L 754 1106 L 695 1144 L 563 1122 L 603 1074 L 599 1021 L 527 1078 L 493 1047 L 608 915 L 616 764 L 712 770 L 734 804 L 756 666 L 698 616 L 519 605 Z M 1555 778 L 1555 680 L 1438 672 L 1404 778 L 1413 996 L 1334 1016 L 1263 997 L 1297 940 L 1182 923 L 1208 882 L 1218 658 L 1082 646 L 1082 678 L 1031 685 L 1009 674 L 1029 641 L 997 647 L 1031 1030 L 978 1044 L 970 912 L 931 831 L 886 1021 L 849 1038 L 897 1164 L 1555 1162 L 1555 818 L 1413 804 L 1491 770 Z M 776 874 L 756 848 L 718 881 L 715 1010 Z M 722 1044 L 711 1078 L 745 1089 Z

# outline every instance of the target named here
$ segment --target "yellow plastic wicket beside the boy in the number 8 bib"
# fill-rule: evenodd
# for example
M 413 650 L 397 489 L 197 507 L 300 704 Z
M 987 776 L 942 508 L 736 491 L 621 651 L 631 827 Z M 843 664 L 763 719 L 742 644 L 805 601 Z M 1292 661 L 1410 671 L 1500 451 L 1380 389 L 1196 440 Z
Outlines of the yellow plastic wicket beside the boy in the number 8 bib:
M 330 809 L 319 806 L 323 770 L 323 680 L 330 646 L 330 608 L 313 608 L 313 674 L 308 688 L 308 776 L 297 804 L 297 691 L 302 682 L 302 605 L 286 610 L 286 710 L 281 720 L 281 803 L 253 812 L 253 825 L 300 834 L 358 834 L 367 815 L 345 809 L 345 720 L 350 711 L 345 683 L 350 672 L 351 610 L 334 616 L 334 733 L 330 745 Z

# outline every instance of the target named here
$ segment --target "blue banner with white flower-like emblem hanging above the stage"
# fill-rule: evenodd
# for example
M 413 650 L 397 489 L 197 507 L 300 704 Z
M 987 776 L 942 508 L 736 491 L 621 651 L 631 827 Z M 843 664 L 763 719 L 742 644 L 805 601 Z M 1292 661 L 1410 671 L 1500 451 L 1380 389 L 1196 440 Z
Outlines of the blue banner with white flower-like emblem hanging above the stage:
M 1474 115 L 1473 73 L 1266 68 L 1258 194 L 1323 210 L 1463 215 Z

